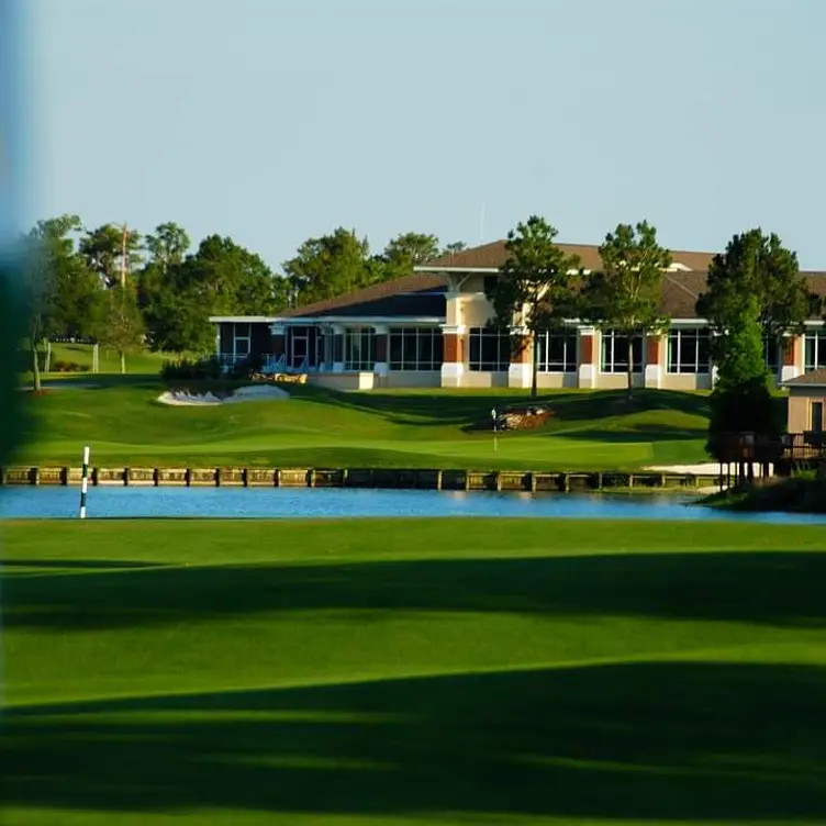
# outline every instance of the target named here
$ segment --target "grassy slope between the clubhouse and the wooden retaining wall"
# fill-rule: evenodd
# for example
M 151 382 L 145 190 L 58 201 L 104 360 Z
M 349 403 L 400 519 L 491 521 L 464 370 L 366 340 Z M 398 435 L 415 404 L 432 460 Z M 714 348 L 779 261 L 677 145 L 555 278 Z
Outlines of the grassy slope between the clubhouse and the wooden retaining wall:
M 170 409 L 152 380 L 62 389 L 30 399 L 30 444 L 19 459 L 77 464 L 91 443 L 99 465 L 612 469 L 705 458 L 707 399 L 643 391 L 560 391 L 537 433 L 468 433 L 514 391 L 335 393 L 294 389 L 287 402 Z

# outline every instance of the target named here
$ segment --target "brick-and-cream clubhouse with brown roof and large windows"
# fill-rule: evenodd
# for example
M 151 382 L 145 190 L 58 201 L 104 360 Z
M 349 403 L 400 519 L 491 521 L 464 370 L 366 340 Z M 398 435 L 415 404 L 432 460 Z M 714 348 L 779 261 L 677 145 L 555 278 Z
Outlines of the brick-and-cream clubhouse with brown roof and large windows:
M 589 271 L 600 267 L 596 246 L 561 244 Z M 661 335 L 632 336 L 571 319 L 542 333 L 539 388 L 623 388 L 628 357 L 638 387 L 703 390 L 712 387 L 711 333 L 694 305 L 705 290 L 710 253 L 672 252 L 660 312 Z M 416 267 L 415 275 L 373 284 L 272 317 L 215 316 L 217 355 L 226 361 L 253 354 L 268 368 L 306 373 L 311 383 L 341 390 L 373 388 L 490 388 L 531 386 L 533 347 L 525 330 L 489 330 L 487 279 L 506 260 L 504 242 L 466 249 Z M 826 272 L 804 274 L 826 295 Z M 513 346 L 518 337 L 522 346 Z M 779 382 L 826 368 L 826 328 L 811 319 L 801 336 L 766 346 Z

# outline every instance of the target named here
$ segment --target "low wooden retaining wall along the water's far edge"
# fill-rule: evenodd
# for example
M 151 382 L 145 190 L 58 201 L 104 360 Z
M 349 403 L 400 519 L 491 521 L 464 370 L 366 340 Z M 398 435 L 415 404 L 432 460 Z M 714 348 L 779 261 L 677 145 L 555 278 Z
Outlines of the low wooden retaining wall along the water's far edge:
M 79 485 L 80 468 L 0 468 L 0 484 Z M 427 470 L 384 468 L 91 468 L 92 485 L 210 488 L 365 488 L 394 490 L 570 492 L 628 488 L 696 488 L 717 476 L 647 472 Z

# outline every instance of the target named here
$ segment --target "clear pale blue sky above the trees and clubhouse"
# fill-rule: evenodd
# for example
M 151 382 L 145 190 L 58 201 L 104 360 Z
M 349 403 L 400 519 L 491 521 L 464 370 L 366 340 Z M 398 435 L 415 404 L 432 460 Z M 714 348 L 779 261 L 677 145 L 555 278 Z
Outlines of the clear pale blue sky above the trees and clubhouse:
M 380 249 L 647 217 L 826 269 L 824 0 L 25 2 L 33 216 L 177 221 L 274 268 L 338 225 Z

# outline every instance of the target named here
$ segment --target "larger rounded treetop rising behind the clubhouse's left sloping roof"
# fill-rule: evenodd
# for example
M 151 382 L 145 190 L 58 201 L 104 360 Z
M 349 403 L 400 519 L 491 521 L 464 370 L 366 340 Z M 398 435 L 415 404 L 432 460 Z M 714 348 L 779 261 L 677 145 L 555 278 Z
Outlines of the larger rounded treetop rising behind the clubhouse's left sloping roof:
M 344 295 L 383 280 L 386 271 L 376 260 L 369 264 L 366 238 L 354 230 L 338 227 L 331 235 L 309 238 L 293 258 L 282 265 L 297 305 Z

